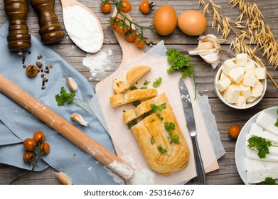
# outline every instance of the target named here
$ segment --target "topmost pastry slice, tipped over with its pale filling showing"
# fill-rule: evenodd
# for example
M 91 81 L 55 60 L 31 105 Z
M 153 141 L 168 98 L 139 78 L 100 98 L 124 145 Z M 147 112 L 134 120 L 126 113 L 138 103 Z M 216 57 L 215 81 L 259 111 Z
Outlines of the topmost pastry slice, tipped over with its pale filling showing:
M 117 77 L 113 80 L 113 90 L 117 95 L 119 93 L 128 90 L 129 87 L 132 87 L 137 80 L 139 80 L 143 75 L 151 70 L 151 67 L 146 65 L 138 65 L 132 67 L 127 73 L 122 74 L 120 77 Z

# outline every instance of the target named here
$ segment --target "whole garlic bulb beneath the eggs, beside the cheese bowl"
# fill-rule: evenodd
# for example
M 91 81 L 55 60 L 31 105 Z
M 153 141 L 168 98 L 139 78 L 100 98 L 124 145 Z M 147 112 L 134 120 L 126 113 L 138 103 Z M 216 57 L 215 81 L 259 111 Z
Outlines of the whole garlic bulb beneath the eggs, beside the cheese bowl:
M 189 55 L 200 55 L 206 63 L 210 63 L 213 69 L 220 63 L 221 47 L 220 40 L 213 34 L 200 36 L 198 47 L 189 51 Z

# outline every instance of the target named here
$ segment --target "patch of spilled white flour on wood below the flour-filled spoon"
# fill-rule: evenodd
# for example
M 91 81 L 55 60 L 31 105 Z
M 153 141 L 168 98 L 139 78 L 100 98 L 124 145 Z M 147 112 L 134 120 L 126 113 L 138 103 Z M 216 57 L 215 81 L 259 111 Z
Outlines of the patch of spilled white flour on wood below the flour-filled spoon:
M 85 57 L 82 63 L 90 69 L 93 77 L 100 73 L 106 75 L 105 70 L 110 69 L 109 55 L 112 55 L 112 50 L 100 50 L 98 53 Z

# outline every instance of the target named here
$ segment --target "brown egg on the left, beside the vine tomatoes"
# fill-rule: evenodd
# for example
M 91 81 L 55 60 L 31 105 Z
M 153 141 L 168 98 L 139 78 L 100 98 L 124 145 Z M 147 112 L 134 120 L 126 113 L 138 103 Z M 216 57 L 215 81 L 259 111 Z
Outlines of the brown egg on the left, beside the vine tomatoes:
M 177 25 L 176 11 L 172 6 L 160 6 L 154 14 L 154 29 L 161 36 L 168 36 L 175 31 Z

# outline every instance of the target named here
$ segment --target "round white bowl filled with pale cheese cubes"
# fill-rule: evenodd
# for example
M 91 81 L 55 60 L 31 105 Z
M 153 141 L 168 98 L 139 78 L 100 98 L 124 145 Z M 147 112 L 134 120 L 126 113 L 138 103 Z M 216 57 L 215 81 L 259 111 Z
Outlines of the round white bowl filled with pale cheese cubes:
M 260 102 L 267 90 L 267 70 L 247 54 L 225 60 L 215 75 L 215 93 L 229 107 L 248 109 Z

